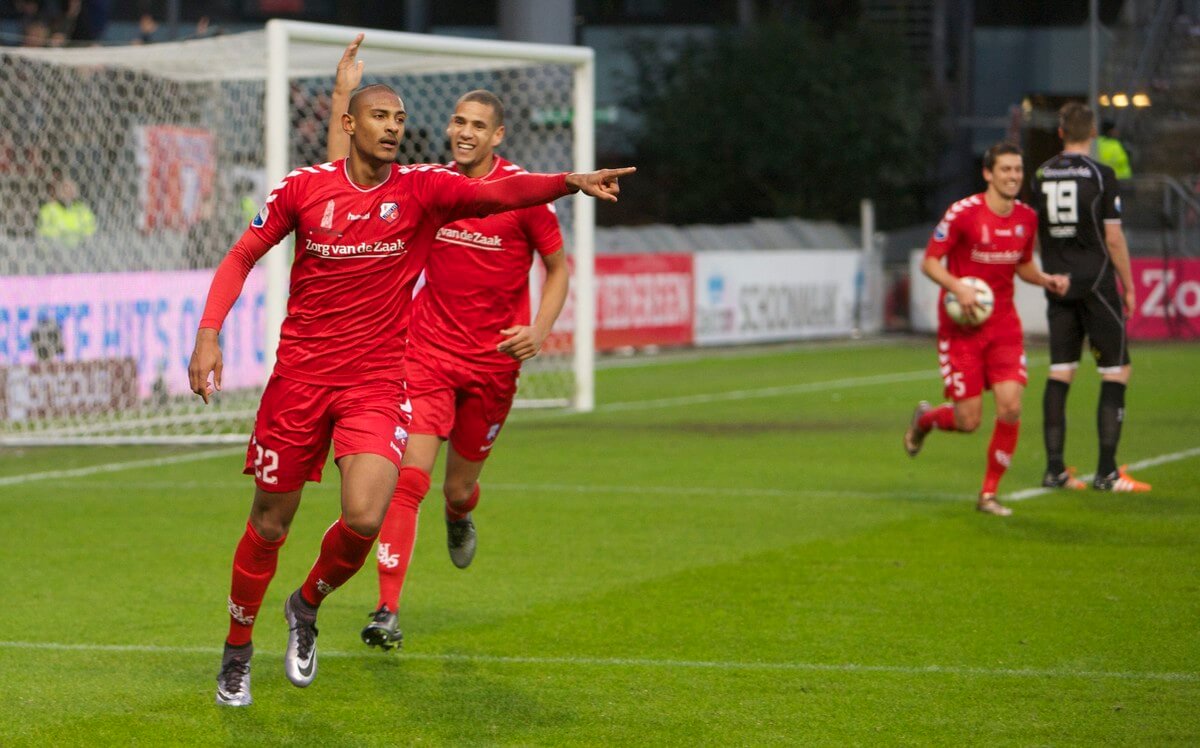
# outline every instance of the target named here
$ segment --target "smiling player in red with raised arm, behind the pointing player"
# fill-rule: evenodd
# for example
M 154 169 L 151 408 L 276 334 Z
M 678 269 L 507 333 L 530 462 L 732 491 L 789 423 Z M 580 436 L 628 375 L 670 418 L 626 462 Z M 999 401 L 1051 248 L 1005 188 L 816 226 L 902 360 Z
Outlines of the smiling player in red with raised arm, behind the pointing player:
M 362 66 L 354 60 L 359 41 L 337 66 L 335 116 L 361 79 Z M 490 91 L 470 91 L 458 100 L 446 136 L 454 154 L 450 168 L 467 176 L 492 181 L 523 172 L 494 152 L 504 139 L 504 106 Z M 341 156 L 347 146 L 346 137 L 331 128 L 329 157 Z M 534 255 L 545 263 L 546 282 L 530 323 Z M 457 221 L 438 231 L 425 285 L 413 301 L 404 364 L 413 423 L 379 532 L 379 603 L 362 629 L 367 645 L 390 650 L 402 641 L 400 596 L 419 507 L 444 441 L 450 442 L 443 481 L 450 558 L 458 568 L 474 558 L 472 510 L 479 502 L 484 461 L 512 407 L 521 363 L 538 354 L 563 309 L 568 277 L 563 237 L 550 205 Z

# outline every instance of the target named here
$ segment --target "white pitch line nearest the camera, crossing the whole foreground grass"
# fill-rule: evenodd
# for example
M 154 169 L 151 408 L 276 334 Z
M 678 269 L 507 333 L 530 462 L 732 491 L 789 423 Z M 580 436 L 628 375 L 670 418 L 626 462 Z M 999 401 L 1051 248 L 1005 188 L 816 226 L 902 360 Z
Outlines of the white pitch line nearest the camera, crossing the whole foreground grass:
M 41 650 L 55 652 L 142 652 L 148 654 L 221 654 L 220 647 L 166 647 L 157 645 L 60 644 L 52 641 L 0 641 L 0 650 Z M 277 652 L 259 652 L 260 657 L 281 657 Z M 382 659 L 374 651 L 320 651 L 336 659 Z M 509 657 L 502 654 L 455 654 L 406 651 L 398 659 L 438 663 L 482 663 L 496 665 L 568 665 L 592 668 L 664 668 L 680 670 L 742 670 L 768 672 L 890 672 L 900 675 L 954 675 L 1018 678 L 1110 678 L 1121 681 L 1198 682 L 1200 672 L 1154 672 L 1136 670 L 1073 670 L 1069 668 L 971 668 L 965 665 L 865 665 L 862 663 L 769 663 L 734 660 L 654 659 L 630 657 Z

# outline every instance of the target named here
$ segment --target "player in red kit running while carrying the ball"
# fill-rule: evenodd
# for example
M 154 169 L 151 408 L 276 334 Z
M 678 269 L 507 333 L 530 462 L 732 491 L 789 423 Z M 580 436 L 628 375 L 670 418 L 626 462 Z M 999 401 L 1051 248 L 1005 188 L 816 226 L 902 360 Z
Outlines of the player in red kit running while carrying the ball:
M 983 417 L 983 390 L 996 397 L 996 425 L 988 444 L 988 468 L 979 491 L 980 511 L 1008 516 L 1012 510 L 996 499 L 996 487 L 1016 449 L 1021 418 L 1021 394 L 1027 382 L 1021 319 L 1013 303 L 1013 274 L 1051 293 L 1067 292 L 1066 275 L 1046 275 L 1033 261 L 1038 232 L 1037 214 L 1016 199 L 1025 179 L 1021 150 L 997 143 L 983 158 L 988 190 L 950 205 L 925 247 L 922 270 L 942 291 L 954 293 L 971 315 L 974 291 L 964 276 L 980 277 L 991 286 L 995 309 L 982 325 L 955 324 L 938 304 L 937 363 L 953 401 L 931 407 L 922 401 L 904 436 L 907 453 L 917 456 L 934 429 L 971 432 Z M 942 264 L 942 261 L 946 264 Z

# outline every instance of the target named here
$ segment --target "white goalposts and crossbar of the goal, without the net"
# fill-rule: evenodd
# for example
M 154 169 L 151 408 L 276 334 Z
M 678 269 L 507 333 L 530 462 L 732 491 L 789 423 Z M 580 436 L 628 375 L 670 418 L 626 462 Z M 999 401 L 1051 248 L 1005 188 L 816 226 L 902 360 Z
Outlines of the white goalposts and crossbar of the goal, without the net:
M 298 20 L 266 23 L 266 101 L 265 144 L 268 184 L 276 184 L 292 169 L 288 163 L 290 120 L 288 115 L 288 49 L 294 42 L 318 42 L 346 46 L 362 31 L 352 26 L 336 26 Z M 493 40 L 460 38 L 408 34 L 403 31 L 367 30 L 368 47 L 386 47 L 414 54 L 456 55 L 487 61 L 538 61 L 570 65 L 574 70 L 574 115 L 571 116 L 571 172 L 595 168 L 595 53 L 589 47 L 541 44 Z M 372 71 L 376 72 L 376 71 Z M 566 164 L 564 164 L 566 166 Z M 526 401 L 526 406 L 570 406 L 589 412 L 595 407 L 595 201 L 577 193 L 574 201 L 572 247 L 575 271 L 571 285 L 575 293 L 574 375 L 575 393 L 570 402 L 557 400 Z M 281 244 L 266 255 L 266 352 L 268 370 L 275 366 L 275 349 L 280 341 L 280 325 L 287 312 L 289 243 Z

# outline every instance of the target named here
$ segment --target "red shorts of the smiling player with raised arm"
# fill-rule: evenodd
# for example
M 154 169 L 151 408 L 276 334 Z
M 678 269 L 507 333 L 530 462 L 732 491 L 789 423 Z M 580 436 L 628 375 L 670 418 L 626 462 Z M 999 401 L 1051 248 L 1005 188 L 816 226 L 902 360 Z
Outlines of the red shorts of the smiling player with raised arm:
M 520 370 L 486 371 L 412 348 L 404 361 L 413 433 L 450 439 L 468 460 L 486 460 L 512 409 Z

